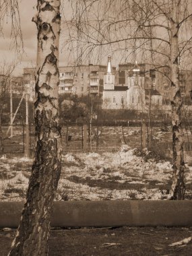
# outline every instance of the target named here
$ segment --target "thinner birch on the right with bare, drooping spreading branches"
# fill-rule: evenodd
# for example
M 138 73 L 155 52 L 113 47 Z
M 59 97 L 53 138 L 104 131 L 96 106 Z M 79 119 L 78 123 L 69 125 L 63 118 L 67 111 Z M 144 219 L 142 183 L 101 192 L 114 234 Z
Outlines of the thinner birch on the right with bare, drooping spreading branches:
M 182 98 L 179 67 L 191 55 L 191 4 L 187 0 L 105 0 L 72 3 L 71 30 L 78 34 L 83 55 L 118 53 L 127 61 L 135 57 L 152 63 L 154 70 L 170 68 L 170 104 L 172 108 L 172 187 L 168 199 L 185 198 L 185 164 L 181 125 Z M 75 11 L 78 6 L 78 12 Z M 82 11 L 81 11 L 82 10 Z M 191 11 L 191 13 L 190 13 Z M 73 32 L 71 49 L 75 48 Z M 76 44 L 75 44 L 76 42 Z M 96 58 L 95 58 L 96 59 Z

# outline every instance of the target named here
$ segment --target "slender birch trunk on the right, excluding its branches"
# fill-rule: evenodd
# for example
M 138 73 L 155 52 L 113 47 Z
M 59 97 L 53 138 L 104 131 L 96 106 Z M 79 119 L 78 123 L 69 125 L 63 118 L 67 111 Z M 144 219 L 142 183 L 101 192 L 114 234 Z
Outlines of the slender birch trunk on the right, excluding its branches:
M 170 19 L 170 70 L 171 70 L 171 105 L 172 105 L 172 152 L 173 176 L 170 199 L 185 198 L 183 130 L 181 127 L 181 91 L 179 88 L 179 13 L 181 0 L 172 0 Z

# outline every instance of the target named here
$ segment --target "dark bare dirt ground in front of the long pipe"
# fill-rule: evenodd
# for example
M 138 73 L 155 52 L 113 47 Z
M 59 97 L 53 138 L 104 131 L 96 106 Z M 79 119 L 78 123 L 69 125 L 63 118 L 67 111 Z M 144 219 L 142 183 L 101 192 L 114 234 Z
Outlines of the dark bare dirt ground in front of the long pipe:
M 0 255 L 7 255 L 15 230 L 0 230 Z M 168 245 L 192 235 L 191 228 L 52 229 L 50 256 L 190 256 L 192 243 Z

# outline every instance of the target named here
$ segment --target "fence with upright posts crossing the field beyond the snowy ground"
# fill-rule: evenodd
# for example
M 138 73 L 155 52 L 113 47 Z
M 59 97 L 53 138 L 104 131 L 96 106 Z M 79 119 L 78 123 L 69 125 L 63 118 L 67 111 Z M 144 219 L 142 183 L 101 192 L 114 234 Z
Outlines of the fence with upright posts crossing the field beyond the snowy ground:
M 12 128 L 11 128 L 12 127 Z M 30 156 L 35 151 L 34 123 L 2 126 L 3 154 L 24 154 L 26 143 Z M 26 139 L 26 129 L 29 139 Z M 12 129 L 12 136 L 11 135 Z M 192 151 L 191 130 L 183 127 L 184 150 Z M 143 123 L 119 121 L 115 123 L 63 123 L 61 129 L 63 152 L 117 152 L 122 144 L 130 148 L 148 148 L 156 154 L 172 154 L 172 127 L 170 123 Z

